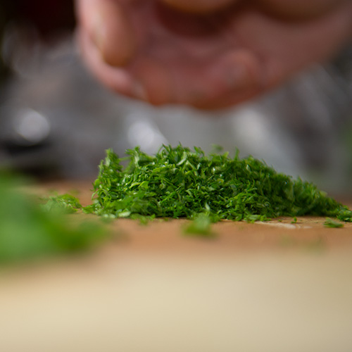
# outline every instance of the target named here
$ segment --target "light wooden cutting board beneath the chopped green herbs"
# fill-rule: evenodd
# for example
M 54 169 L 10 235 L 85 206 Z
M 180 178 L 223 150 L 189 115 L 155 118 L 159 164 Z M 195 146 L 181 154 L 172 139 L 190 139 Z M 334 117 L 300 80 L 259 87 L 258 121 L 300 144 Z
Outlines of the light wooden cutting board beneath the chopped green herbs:
M 80 191 L 89 182 L 31 187 Z M 87 215 L 77 215 L 84 221 Z M 79 258 L 0 272 L 0 351 L 352 351 L 352 227 L 324 218 L 111 223 Z

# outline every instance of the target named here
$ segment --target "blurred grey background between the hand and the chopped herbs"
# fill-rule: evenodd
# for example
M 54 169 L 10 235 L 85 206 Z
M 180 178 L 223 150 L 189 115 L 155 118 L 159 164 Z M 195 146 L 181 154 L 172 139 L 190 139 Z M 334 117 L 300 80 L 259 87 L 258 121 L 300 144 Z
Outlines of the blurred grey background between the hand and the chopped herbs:
M 94 179 L 105 149 L 213 144 L 249 154 L 333 195 L 352 194 L 352 45 L 275 92 L 204 112 L 116 96 L 84 68 L 72 0 L 0 3 L 0 165 Z

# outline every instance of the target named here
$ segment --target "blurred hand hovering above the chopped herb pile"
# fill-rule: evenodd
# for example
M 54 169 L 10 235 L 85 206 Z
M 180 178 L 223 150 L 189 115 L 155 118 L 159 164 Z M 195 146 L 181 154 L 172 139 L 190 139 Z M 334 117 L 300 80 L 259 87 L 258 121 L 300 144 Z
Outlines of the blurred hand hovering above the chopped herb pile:
M 352 34 L 351 0 L 77 0 L 96 77 L 153 105 L 225 108 L 327 61 Z

